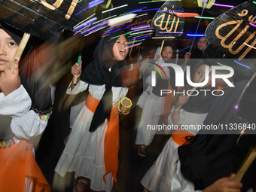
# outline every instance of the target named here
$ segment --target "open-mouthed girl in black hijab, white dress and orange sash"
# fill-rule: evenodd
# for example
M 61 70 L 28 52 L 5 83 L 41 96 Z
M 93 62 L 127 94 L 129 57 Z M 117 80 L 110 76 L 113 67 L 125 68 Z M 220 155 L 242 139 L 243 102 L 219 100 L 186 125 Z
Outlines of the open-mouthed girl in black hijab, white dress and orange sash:
M 93 62 L 84 69 L 76 63 L 72 75 L 78 75 L 78 84 L 71 82 L 67 93 L 77 94 L 89 88 L 84 108 L 72 126 L 72 132 L 55 171 L 62 177 L 75 172 L 78 184 L 73 191 L 84 191 L 89 185 L 96 191 L 110 192 L 117 181 L 119 150 L 118 111 L 120 99 L 126 96 L 120 70 L 125 66 L 128 49 L 123 32 L 102 38 L 94 50 Z M 114 38 L 115 37 L 115 38 Z M 81 75 L 81 77 L 80 77 Z

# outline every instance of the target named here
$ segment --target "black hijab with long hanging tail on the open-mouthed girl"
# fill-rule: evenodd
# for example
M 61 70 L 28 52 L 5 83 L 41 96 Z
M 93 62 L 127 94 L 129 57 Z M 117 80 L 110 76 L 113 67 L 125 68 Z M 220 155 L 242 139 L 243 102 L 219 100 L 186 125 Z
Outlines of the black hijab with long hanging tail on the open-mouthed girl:
M 115 41 L 117 41 L 117 38 L 122 34 L 123 32 L 114 32 L 102 38 L 94 50 L 93 62 L 89 63 L 81 75 L 81 81 L 86 81 L 88 84 L 105 84 L 105 93 L 103 94 L 93 115 L 93 120 L 89 129 L 90 132 L 94 132 L 97 127 L 104 122 L 105 118 L 108 117 L 111 111 L 111 87 L 122 86 L 120 70 L 126 65 L 126 61 L 123 60 L 118 62 L 115 60 L 112 50 Z M 109 71 L 110 67 L 111 71 Z

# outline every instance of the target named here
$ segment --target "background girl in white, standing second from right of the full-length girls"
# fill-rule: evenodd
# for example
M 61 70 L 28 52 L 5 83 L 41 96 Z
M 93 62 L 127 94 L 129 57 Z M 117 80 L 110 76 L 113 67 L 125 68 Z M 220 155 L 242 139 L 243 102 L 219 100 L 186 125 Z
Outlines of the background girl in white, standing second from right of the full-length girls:
M 157 56 L 157 65 L 162 66 L 162 63 L 171 62 L 173 55 L 172 46 L 166 44 L 163 46 L 162 56 Z M 169 68 L 166 66 L 162 66 L 163 70 L 166 72 L 167 79 L 167 87 L 169 84 Z M 146 74 L 147 72 L 145 72 Z M 138 154 L 142 157 L 145 157 L 148 145 L 151 144 L 155 133 L 157 130 L 147 130 L 145 126 L 145 122 L 151 125 L 156 125 L 160 120 L 160 116 L 163 114 L 163 105 L 165 101 L 165 97 L 158 96 L 154 93 L 154 87 L 151 86 L 151 76 L 145 77 L 145 84 L 148 85 L 145 91 L 143 91 L 142 95 L 139 97 L 137 105 L 143 109 L 142 118 L 139 121 L 137 135 L 136 135 L 136 145 L 138 145 Z

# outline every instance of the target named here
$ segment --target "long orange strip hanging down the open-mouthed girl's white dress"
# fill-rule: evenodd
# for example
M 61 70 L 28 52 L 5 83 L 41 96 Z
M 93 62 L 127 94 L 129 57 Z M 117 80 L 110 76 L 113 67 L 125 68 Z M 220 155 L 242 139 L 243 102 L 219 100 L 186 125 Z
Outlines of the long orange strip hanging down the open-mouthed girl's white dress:
M 117 104 L 112 106 L 111 108 L 111 114 L 108 120 L 108 130 L 105 133 L 105 142 L 104 142 L 105 175 L 112 172 L 114 181 L 117 181 L 118 151 L 119 151 L 119 117 L 118 117 L 118 102 L 117 102 Z M 103 175 L 104 181 L 105 181 L 105 175 Z

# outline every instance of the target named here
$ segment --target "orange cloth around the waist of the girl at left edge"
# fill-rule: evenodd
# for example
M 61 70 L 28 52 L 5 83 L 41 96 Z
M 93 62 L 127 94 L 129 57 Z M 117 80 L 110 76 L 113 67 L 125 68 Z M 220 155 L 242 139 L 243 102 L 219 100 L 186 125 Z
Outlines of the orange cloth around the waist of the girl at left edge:
M 25 140 L 0 148 L 1 191 L 26 191 L 25 178 L 29 178 L 33 181 L 32 191 L 50 192 L 50 185 L 35 161 L 32 148 L 32 143 Z

